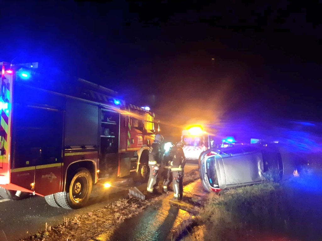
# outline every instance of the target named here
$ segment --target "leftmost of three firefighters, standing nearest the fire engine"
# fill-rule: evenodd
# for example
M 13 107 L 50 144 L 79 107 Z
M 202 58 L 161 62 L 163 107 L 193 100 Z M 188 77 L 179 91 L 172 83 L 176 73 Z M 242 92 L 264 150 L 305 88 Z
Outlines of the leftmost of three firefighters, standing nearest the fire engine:
M 157 134 L 149 150 L 150 176 L 149 181 L 147 182 L 147 192 L 150 193 L 156 192 L 156 187 L 158 186 L 157 178 L 159 167 L 161 165 L 161 143 L 163 140 L 163 136 Z

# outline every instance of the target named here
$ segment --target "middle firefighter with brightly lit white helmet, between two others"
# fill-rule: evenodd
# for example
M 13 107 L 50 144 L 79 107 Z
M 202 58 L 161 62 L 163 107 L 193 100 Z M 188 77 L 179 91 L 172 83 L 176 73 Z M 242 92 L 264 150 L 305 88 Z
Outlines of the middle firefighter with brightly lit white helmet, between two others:
M 165 153 L 163 155 L 163 192 L 168 193 L 168 186 L 172 182 L 172 172 L 171 172 L 171 161 L 172 161 L 172 148 L 175 145 L 171 142 L 167 142 L 164 145 Z

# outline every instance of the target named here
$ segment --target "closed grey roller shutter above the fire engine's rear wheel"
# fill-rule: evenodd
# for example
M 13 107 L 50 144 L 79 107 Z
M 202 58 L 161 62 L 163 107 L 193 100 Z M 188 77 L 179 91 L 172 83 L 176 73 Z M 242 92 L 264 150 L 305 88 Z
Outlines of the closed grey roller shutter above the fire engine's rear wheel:
M 99 107 L 67 99 L 65 146 L 98 146 Z

